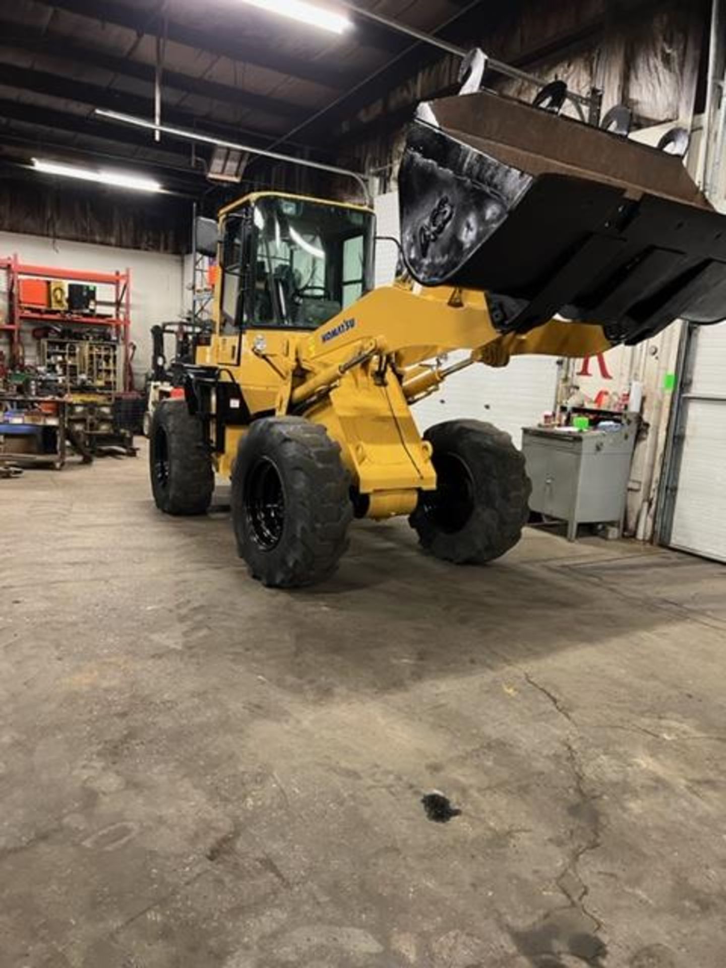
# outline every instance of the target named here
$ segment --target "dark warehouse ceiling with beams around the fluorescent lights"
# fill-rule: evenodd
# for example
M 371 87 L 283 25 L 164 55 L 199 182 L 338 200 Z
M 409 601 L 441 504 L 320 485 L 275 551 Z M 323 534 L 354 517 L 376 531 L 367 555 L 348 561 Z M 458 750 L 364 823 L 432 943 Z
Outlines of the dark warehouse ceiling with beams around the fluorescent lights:
M 359 6 L 450 40 L 471 36 L 491 9 L 470 0 Z M 2 4 L 0 152 L 6 161 L 41 150 L 63 160 L 93 153 L 193 188 L 208 150 L 195 153 L 167 137 L 155 143 L 151 132 L 94 115 L 102 107 L 152 118 L 161 58 L 166 124 L 332 160 L 331 135 L 351 112 L 441 56 L 371 20 L 351 19 L 353 28 L 337 36 L 242 0 Z

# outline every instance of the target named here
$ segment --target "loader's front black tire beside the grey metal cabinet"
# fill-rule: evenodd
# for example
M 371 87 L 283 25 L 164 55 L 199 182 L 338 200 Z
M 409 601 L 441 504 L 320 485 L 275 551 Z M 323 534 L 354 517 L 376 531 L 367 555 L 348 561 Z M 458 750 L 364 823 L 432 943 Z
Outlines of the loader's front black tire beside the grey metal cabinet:
M 438 485 L 408 519 L 421 546 L 456 564 L 483 564 L 517 544 L 529 515 L 525 458 L 508 434 L 479 420 L 450 420 L 424 434 Z

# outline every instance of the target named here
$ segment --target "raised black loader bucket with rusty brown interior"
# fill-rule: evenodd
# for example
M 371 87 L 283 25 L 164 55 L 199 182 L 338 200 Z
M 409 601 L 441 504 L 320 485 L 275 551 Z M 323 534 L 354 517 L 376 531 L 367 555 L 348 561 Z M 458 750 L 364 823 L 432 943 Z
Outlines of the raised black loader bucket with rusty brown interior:
M 428 107 L 399 172 L 417 282 L 486 290 L 502 332 L 560 314 L 634 344 L 726 318 L 726 217 L 680 158 L 486 92 Z

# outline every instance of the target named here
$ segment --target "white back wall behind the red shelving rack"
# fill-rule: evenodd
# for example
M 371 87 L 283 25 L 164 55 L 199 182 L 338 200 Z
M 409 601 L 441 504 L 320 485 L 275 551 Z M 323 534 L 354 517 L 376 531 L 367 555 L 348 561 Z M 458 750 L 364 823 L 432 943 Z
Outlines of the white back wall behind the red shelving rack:
M 136 343 L 134 376 L 136 388 L 142 388 L 151 359 L 150 327 L 156 322 L 179 318 L 189 306 L 190 295 L 184 287 L 183 258 L 0 231 L 0 257 L 15 253 L 21 262 L 54 268 L 95 272 L 131 269 L 131 339 Z M 101 292 L 99 298 L 103 298 Z M 29 334 L 24 343 L 31 348 Z

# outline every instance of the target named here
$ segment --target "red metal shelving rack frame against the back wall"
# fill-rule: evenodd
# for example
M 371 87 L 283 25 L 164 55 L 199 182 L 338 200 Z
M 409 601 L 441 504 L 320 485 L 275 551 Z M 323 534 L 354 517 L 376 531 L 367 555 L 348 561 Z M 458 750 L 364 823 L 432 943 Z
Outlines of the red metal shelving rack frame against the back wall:
M 56 322 L 73 326 L 111 326 L 119 344 L 123 346 L 123 388 L 129 390 L 130 342 L 131 342 L 131 269 L 124 272 L 92 272 L 84 269 L 59 269 L 48 265 L 31 265 L 21 262 L 17 255 L 0 258 L 0 270 L 8 274 L 8 321 L 0 325 L 10 340 L 10 362 L 19 362 L 22 350 L 23 322 Z M 20 279 L 59 280 L 64 282 L 91 283 L 113 287 L 112 312 L 109 316 L 78 316 L 63 310 L 28 309 L 20 305 Z

